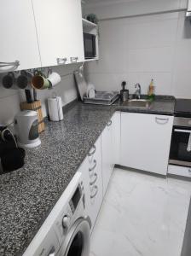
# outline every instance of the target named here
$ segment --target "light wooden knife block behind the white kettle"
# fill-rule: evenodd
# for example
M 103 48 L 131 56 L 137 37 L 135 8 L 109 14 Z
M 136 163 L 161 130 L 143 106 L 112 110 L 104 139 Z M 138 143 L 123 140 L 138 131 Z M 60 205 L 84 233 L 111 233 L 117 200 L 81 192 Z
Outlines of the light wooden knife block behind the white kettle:
M 35 101 L 32 103 L 21 102 L 20 109 L 21 110 L 37 111 L 37 113 L 38 113 L 38 132 L 41 133 L 42 131 L 45 130 L 45 125 L 43 122 L 43 111 L 42 111 L 41 101 Z

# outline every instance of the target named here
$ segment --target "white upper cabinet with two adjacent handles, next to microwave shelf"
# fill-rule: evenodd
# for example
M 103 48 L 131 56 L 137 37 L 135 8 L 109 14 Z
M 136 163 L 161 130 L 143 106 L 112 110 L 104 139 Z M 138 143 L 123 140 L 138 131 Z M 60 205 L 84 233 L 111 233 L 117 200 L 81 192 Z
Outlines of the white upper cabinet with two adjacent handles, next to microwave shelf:
M 32 0 L 43 67 L 84 61 L 80 0 Z

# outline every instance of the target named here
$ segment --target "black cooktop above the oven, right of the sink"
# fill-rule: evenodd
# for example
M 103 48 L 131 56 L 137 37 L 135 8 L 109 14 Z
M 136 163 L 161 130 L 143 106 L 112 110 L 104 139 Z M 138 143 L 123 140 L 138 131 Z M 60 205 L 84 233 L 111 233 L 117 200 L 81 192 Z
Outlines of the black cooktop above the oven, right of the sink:
M 191 117 L 191 99 L 176 99 L 175 115 L 181 117 Z

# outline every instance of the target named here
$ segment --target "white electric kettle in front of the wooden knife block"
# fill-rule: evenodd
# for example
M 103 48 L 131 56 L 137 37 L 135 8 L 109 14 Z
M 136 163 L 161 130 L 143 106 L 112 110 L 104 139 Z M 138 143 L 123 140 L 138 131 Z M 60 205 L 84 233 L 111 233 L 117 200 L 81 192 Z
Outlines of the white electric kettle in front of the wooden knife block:
M 21 148 L 35 148 L 41 144 L 36 111 L 25 110 L 17 113 L 14 117 L 14 129 Z

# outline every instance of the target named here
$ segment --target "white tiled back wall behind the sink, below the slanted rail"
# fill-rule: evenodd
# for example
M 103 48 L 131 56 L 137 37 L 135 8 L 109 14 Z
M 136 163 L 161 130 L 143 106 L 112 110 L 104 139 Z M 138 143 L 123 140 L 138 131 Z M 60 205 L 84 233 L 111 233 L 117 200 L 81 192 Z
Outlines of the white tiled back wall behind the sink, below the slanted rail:
M 130 93 L 137 82 L 147 93 L 154 79 L 156 94 L 191 98 L 191 24 L 184 11 L 101 20 L 100 61 L 86 67 L 96 90 L 120 90 L 127 80 Z

